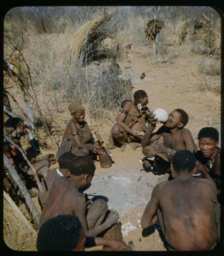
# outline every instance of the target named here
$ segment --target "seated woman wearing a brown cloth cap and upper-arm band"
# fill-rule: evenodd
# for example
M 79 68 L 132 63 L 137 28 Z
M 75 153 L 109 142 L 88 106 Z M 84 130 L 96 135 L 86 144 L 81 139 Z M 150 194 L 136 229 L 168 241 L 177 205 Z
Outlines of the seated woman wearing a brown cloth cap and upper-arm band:
M 82 101 L 78 100 L 70 104 L 69 111 L 73 119 L 69 121 L 66 127 L 56 159 L 65 152 L 72 152 L 76 156 L 88 156 L 90 152 L 104 155 L 105 152 L 99 143 L 94 141 L 90 128 L 84 121 L 85 109 L 82 106 Z

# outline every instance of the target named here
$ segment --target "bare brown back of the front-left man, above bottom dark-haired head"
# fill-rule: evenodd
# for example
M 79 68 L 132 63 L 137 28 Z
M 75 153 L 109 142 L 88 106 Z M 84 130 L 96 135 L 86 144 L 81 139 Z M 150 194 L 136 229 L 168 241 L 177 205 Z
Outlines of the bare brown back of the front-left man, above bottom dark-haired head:
M 60 177 L 52 184 L 47 202 L 41 213 L 39 227 L 45 221 L 58 215 L 74 215 L 78 211 L 79 199 L 84 195 L 71 185 L 65 177 Z

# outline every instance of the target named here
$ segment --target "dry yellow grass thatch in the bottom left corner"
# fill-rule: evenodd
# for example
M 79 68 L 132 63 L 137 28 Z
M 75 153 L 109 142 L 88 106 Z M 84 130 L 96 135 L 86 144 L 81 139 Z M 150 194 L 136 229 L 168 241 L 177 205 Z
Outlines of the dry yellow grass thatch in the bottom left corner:
M 36 251 L 37 232 L 20 210 L 4 194 L 4 242 L 6 245 L 17 251 Z

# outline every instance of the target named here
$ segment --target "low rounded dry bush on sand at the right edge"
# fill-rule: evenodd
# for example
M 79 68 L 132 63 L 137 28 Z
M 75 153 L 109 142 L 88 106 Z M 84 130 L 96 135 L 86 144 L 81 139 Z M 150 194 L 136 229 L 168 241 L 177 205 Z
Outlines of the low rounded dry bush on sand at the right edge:
M 202 74 L 207 74 L 207 75 L 220 75 L 221 73 L 221 63 L 220 60 L 217 60 L 215 58 L 208 58 L 203 61 L 198 65 L 198 71 Z

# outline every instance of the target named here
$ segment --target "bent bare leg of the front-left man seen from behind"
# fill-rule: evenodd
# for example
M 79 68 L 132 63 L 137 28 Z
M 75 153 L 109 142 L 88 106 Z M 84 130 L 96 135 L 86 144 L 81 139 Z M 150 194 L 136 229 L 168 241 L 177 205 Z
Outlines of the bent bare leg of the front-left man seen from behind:
M 88 229 L 93 229 L 94 227 L 99 226 L 102 223 L 107 211 L 108 204 L 103 199 L 98 199 L 93 202 L 90 205 L 86 216 Z

